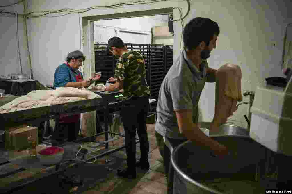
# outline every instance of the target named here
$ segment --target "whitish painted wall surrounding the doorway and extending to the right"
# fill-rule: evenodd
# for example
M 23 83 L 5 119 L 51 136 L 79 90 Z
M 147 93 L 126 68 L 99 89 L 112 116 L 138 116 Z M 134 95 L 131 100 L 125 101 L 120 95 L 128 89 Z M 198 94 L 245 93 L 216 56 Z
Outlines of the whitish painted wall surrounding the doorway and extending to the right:
M 29 11 L 52 10 L 61 8 L 81 9 L 93 5 L 108 5 L 126 1 L 56 1 L 29 0 Z M 132 5 L 126 8 L 110 10 L 91 10 L 81 13 L 80 17 L 140 11 L 180 6 L 183 15 L 187 10 L 185 1 L 163 1 L 150 5 Z M 242 69 L 242 89 L 255 90 L 265 85 L 265 78 L 282 76 L 281 54 L 284 29 L 292 22 L 290 0 L 273 1 L 231 1 L 204 0 L 191 1 L 191 12 L 185 18 L 185 24 L 194 17 L 209 17 L 218 22 L 220 36 L 218 46 L 208 59 L 209 65 L 219 68 L 230 62 L 239 64 Z M 177 9 L 174 11 L 178 17 Z M 55 68 L 62 63 L 68 52 L 80 48 L 79 15 L 77 13 L 54 18 L 29 19 L 29 44 L 32 55 L 34 76 L 46 84 L 52 84 Z M 180 53 L 180 22 L 174 24 L 174 58 Z M 14 52 L 14 51 L 13 51 Z M 14 52 L 15 53 L 15 52 Z M 16 61 L 16 60 L 15 60 Z M 214 114 L 215 84 L 206 84 L 200 100 L 201 120 L 211 121 Z M 244 101 L 248 100 L 244 97 Z M 246 126 L 243 115 L 248 105 L 239 106 L 239 110 L 230 121 Z

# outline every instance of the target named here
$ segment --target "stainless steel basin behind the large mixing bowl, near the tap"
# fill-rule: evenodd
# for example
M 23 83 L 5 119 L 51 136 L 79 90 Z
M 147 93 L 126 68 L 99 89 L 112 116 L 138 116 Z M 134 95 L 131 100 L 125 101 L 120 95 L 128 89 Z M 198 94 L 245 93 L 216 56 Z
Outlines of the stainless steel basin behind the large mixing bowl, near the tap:
M 200 122 L 201 128 L 210 129 L 210 123 L 211 122 Z M 209 135 L 243 135 L 243 136 L 249 136 L 249 132 L 247 129 L 236 126 L 236 125 L 230 125 L 230 124 L 222 124 L 218 130 L 209 132 Z

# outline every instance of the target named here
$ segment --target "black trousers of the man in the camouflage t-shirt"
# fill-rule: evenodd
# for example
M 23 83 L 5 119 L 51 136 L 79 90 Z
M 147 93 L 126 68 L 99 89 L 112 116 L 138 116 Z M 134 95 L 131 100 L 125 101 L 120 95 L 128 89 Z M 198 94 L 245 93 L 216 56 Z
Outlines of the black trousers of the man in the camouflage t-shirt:
M 146 118 L 149 111 L 149 96 L 132 97 L 123 102 L 121 116 L 126 138 L 128 169 L 135 168 L 136 163 L 136 129 L 140 140 L 141 161 L 148 161 L 149 142 Z

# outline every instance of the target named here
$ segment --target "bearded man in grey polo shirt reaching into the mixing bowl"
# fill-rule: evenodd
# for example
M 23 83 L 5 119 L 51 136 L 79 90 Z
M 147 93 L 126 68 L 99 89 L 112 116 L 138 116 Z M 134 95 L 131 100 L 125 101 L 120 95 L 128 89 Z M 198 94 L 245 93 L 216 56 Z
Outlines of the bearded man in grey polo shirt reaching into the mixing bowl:
M 198 146 L 209 147 L 217 156 L 228 153 L 226 147 L 206 136 L 197 125 L 198 103 L 205 82 L 215 82 L 216 70 L 208 67 L 206 59 L 216 48 L 218 35 L 216 22 L 201 17 L 192 19 L 183 31 L 185 50 L 171 66 L 161 84 L 155 130 L 157 137 L 163 136 L 165 142 L 173 148 L 191 140 Z M 170 150 L 165 143 L 163 153 L 170 194 L 173 168 L 170 165 Z

